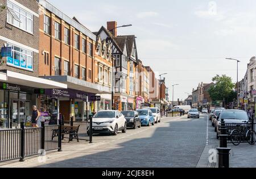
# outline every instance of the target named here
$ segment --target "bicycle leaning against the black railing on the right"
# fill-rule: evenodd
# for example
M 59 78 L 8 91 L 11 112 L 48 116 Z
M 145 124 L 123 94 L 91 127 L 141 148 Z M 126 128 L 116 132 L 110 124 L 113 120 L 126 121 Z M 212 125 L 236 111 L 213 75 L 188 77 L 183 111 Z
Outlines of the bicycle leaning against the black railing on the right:
M 242 124 L 238 124 L 237 127 L 239 129 L 234 129 L 230 134 L 230 139 L 233 145 L 239 145 L 244 139 L 250 145 L 254 145 L 256 143 L 256 132 L 252 130 L 247 122 L 246 128 L 242 129 Z

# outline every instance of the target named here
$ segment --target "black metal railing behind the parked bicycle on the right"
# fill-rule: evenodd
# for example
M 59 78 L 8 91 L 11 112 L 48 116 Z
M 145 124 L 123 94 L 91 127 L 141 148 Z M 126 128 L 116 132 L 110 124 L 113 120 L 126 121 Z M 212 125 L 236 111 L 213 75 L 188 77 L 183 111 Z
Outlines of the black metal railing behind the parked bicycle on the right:
M 230 139 L 230 134 L 233 130 L 240 130 L 244 132 L 247 128 L 249 129 L 255 129 L 256 123 L 225 123 L 226 127 L 226 134 L 228 135 L 228 144 L 232 144 L 232 141 Z M 245 138 L 245 135 L 242 135 L 241 143 L 248 143 L 248 140 Z

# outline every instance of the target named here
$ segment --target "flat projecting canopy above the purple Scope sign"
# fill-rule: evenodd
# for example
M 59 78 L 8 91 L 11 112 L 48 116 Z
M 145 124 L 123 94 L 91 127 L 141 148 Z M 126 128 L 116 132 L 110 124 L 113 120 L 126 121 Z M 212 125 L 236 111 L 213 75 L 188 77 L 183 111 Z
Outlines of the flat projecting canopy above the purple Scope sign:
M 111 94 L 111 88 L 109 87 L 93 84 L 71 76 L 44 76 L 42 78 L 67 84 L 69 89 L 76 89 L 93 94 Z

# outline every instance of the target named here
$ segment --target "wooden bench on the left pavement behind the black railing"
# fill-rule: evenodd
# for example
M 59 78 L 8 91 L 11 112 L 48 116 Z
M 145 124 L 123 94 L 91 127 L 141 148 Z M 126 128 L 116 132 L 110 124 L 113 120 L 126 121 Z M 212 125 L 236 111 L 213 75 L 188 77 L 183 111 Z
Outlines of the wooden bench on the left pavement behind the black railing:
M 73 139 L 76 139 L 77 142 L 79 142 L 79 126 L 61 126 L 61 139 L 64 139 L 65 135 L 69 135 L 68 142 L 72 141 Z M 59 135 L 59 130 L 55 129 L 52 130 L 52 140 L 56 138 Z

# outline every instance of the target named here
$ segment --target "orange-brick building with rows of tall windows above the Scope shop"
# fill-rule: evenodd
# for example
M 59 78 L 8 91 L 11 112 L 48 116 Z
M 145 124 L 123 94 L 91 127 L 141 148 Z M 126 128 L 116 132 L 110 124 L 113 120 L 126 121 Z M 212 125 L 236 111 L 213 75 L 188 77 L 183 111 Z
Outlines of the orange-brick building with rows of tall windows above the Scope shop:
M 39 75 L 68 86 L 68 90 L 57 94 L 47 91 L 42 103 L 47 106 L 46 101 L 54 97 L 65 120 L 85 120 L 97 107 L 92 97 L 111 93 L 110 48 L 75 17 L 69 18 L 47 1 L 38 2 Z M 102 51 L 96 50 L 98 45 Z M 103 68 L 102 64 L 108 65 Z

